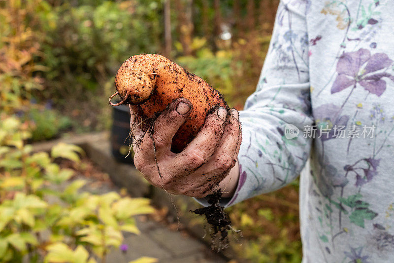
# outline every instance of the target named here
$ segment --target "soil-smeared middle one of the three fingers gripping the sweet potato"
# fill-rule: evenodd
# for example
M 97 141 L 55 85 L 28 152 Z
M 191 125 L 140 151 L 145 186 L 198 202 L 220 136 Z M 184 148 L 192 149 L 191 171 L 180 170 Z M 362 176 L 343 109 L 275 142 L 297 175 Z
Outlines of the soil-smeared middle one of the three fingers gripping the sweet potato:
M 180 174 L 195 171 L 212 156 L 222 138 L 226 116 L 227 111 L 223 107 L 208 115 L 193 141 L 175 156 L 174 171 Z

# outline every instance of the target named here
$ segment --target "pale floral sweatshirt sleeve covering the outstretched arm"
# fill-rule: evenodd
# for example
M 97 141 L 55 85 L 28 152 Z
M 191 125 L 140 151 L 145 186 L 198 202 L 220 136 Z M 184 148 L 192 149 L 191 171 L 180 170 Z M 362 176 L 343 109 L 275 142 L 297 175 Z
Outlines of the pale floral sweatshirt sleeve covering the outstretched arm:
M 311 139 L 303 136 L 304 127 L 313 122 L 307 2 L 279 3 L 257 89 L 239 112 L 240 176 L 233 197 L 221 200 L 223 206 L 286 186 L 298 176 L 309 157 Z M 204 199 L 198 201 L 207 205 Z

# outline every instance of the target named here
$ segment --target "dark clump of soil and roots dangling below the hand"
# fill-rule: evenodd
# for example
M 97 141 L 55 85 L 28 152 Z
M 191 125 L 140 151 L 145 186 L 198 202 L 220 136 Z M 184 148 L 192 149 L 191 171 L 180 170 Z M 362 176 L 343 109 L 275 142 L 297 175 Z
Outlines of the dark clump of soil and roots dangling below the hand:
M 214 243 L 217 238 L 219 238 L 219 250 L 228 246 L 228 231 L 232 229 L 229 215 L 224 211 L 224 207 L 219 205 L 221 196 L 222 191 L 219 189 L 206 197 L 210 206 L 191 211 L 196 215 L 205 216 L 212 230 L 212 243 Z

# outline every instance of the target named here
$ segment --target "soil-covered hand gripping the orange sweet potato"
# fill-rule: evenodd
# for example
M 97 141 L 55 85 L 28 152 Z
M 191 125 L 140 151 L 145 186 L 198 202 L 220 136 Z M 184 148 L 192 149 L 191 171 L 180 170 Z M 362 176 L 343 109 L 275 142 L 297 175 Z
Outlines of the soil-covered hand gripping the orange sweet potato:
M 241 144 L 235 109 L 216 108 L 180 153 L 170 150 L 171 140 L 191 112 L 188 100 L 172 102 L 150 127 L 153 132 L 141 129 L 136 106 L 130 105 L 130 112 L 131 133 L 138 142 L 133 143 L 134 164 L 152 185 L 197 198 L 219 188 L 223 197 L 232 196 L 238 182 L 236 159 Z

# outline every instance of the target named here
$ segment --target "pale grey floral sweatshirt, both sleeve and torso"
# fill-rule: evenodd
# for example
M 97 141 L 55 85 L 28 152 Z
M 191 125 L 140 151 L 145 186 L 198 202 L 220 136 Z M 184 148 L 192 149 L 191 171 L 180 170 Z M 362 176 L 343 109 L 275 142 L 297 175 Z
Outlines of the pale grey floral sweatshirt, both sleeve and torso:
M 394 0 L 283 0 L 230 206 L 300 178 L 304 263 L 394 262 Z M 305 166 L 310 157 L 310 166 Z

